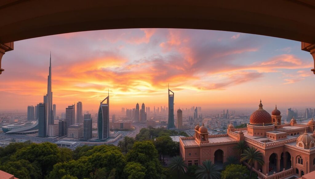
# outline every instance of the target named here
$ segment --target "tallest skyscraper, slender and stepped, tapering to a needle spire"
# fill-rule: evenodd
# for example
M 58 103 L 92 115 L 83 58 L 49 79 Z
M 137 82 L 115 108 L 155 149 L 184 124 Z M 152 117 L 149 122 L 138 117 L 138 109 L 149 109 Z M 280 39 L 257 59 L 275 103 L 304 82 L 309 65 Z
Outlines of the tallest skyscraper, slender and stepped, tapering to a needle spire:
M 51 91 L 51 53 L 50 53 L 50 61 L 49 61 L 49 75 L 48 75 L 48 83 L 47 83 L 47 94 L 44 96 L 44 103 L 47 103 L 47 130 L 48 124 L 54 124 L 54 116 L 53 116 L 53 92 Z

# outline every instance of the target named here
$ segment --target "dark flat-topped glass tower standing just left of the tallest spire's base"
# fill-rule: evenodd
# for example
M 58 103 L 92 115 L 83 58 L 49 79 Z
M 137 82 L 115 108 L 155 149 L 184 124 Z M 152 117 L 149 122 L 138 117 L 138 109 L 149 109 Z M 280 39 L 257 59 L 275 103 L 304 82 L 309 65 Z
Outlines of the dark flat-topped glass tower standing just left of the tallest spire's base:
M 38 136 L 47 137 L 48 121 L 47 121 L 47 103 L 39 103 L 38 106 Z

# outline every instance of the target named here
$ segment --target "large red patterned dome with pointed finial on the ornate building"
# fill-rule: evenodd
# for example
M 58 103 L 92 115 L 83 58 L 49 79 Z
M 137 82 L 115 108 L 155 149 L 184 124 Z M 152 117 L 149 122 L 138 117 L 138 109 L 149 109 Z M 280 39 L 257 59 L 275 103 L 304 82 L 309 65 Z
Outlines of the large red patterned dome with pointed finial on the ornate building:
M 249 118 L 249 124 L 252 125 L 269 125 L 272 124 L 270 114 L 262 108 L 260 101 L 259 109 L 257 109 Z

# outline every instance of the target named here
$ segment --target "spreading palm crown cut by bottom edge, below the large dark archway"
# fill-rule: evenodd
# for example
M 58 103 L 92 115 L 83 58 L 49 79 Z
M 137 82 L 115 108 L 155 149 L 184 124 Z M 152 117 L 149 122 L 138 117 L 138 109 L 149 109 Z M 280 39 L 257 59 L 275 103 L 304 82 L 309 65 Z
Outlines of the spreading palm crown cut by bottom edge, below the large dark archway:
M 197 179 L 220 179 L 221 173 L 218 167 L 210 160 L 202 162 L 202 166 L 198 166 L 195 174 Z

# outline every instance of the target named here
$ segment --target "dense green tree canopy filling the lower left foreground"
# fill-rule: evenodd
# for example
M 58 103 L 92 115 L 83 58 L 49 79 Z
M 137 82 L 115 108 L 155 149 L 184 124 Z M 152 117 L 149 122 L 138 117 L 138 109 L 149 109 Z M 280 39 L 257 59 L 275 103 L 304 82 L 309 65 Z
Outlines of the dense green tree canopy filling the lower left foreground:
M 49 142 L 11 143 L 0 148 L 0 170 L 23 179 L 169 177 L 152 141 L 135 142 L 126 155 L 123 152 L 113 145 L 82 146 L 72 151 Z

